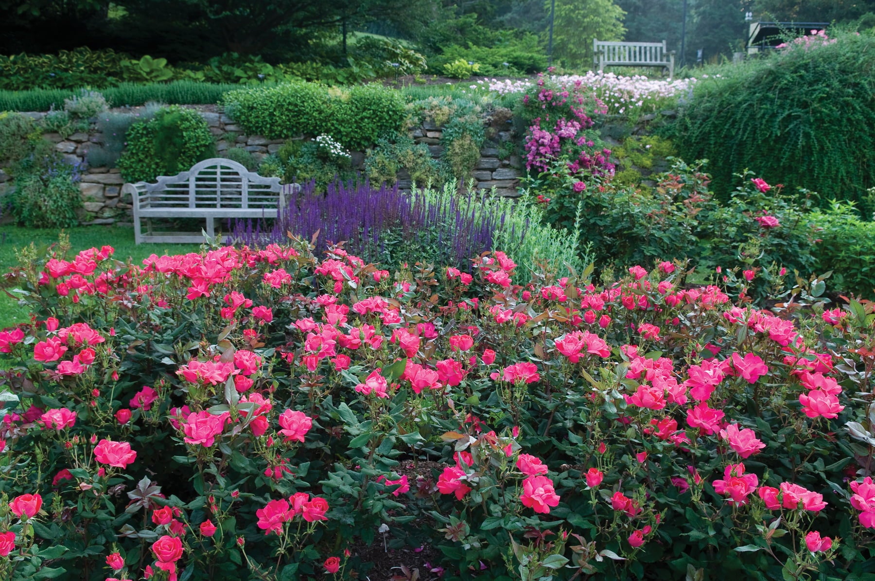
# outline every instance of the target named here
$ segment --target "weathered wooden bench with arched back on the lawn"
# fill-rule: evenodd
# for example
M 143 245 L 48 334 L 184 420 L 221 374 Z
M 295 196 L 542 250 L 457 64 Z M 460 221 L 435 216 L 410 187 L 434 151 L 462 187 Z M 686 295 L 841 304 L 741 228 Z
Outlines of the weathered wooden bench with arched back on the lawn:
M 125 184 L 122 193 L 131 196 L 137 244 L 204 241 L 203 233 L 153 233 L 152 218 L 206 218 L 206 232 L 212 237 L 216 218 L 276 218 L 285 207 L 279 178 L 262 178 L 224 158 L 205 159 L 175 176 L 159 176 L 155 184 Z

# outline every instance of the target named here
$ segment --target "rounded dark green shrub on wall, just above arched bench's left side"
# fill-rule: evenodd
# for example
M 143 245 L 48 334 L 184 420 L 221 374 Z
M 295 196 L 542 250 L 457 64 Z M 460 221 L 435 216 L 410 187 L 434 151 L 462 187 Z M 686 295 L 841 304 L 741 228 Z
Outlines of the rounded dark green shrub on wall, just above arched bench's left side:
M 127 140 L 118 168 L 130 182 L 175 175 L 214 151 L 213 135 L 204 118 L 176 105 L 159 110 L 151 121 L 131 125 Z

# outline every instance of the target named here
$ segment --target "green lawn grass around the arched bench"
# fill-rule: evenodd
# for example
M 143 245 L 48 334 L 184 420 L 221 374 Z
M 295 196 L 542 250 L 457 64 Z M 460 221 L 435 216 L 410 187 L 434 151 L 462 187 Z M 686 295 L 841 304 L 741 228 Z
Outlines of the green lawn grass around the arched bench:
M 116 248 L 114 257 L 117 260 L 127 261 L 129 258 L 134 262 L 140 262 L 151 254 L 180 254 L 197 251 L 197 244 L 134 244 L 133 228 L 117 228 L 105 226 L 85 226 L 69 228 L 65 230 L 70 236 L 73 248 L 68 258 L 72 258 L 80 250 L 85 248 L 100 248 L 109 244 Z M 37 248 L 58 242 L 58 230 L 21 228 L 18 226 L 0 226 L 0 274 L 18 264 L 16 251 L 33 242 Z M 10 289 L 7 289 L 10 290 Z M 25 307 L 0 293 L 0 329 L 30 320 Z

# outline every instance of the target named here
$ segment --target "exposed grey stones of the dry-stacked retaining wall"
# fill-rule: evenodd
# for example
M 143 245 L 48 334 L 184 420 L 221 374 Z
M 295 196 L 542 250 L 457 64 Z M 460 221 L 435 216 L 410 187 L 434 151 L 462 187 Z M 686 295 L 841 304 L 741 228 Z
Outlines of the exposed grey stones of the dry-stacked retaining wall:
M 138 108 L 131 109 L 136 112 Z M 40 119 L 45 113 L 25 113 L 34 119 Z M 233 147 L 243 147 L 252 153 L 256 159 L 260 159 L 269 153 L 276 153 L 285 143 L 284 139 L 268 139 L 262 136 L 248 136 L 242 133 L 242 128 L 234 123 L 224 113 L 200 111 L 200 115 L 207 121 L 210 132 L 216 137 L 216 151 L 219 157 L 224 151 Z M 492 120 L 484 120 L 487 129 L 486 144 L 480 151 L 481 157 L 475 166 L 473 179 L 476 187 L 491 189 L 495 188 L 496 194 L 501 196 L 519 195 L 517 187 L 521 177 L 521 162 L 518 156 L 510 156 L 507 159 L 499 158 L 500 144 L 511 141 L 512 132 L 505 126 L 493 126 Z M 57 133 L 45 133 L 43 137 L 55 144 L 67 163 L 81 165 L 84 171 L 81 173 L 79 187 L 82 196 L 84 213 L 82 224 L 114 224 L 130 223 L 131 205 L 130 196 L 127 200 L 121 195 L 124 180 L 116 168 L 88 167 L 88 148 L 95 144 L 102 144 L 102 133 L 92 129 L 88 133 L 74 133 L 63 138 Z M 416 144 L 427 144 L 431 155 L 439 158 L 444 151 L 440 144 L 443 130 L 433 123 L 423 123 L 410 131 L 410 137 Z M 301 136 L 304 138 L 304 136 Z M 365 154 L 362 151 L 352 151 L 353 167 L 358 170 L 364 169 Z M 410 179 L 406 172 L 398 174 L 399 186 L 409 189 Z M 0 170 L 0 193 L 12 187 L 10 177 Z

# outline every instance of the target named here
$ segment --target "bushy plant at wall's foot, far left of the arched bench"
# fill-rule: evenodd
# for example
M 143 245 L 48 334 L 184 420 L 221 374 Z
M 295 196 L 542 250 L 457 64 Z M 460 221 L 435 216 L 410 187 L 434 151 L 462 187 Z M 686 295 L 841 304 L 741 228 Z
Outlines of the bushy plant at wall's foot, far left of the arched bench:
M 79 222 L 82 206 L 79 168 L 60 160 L 52 144 L 38 144 L 16 173 L 9 196 L 12 216 L 28 228 L 68 228 Z

